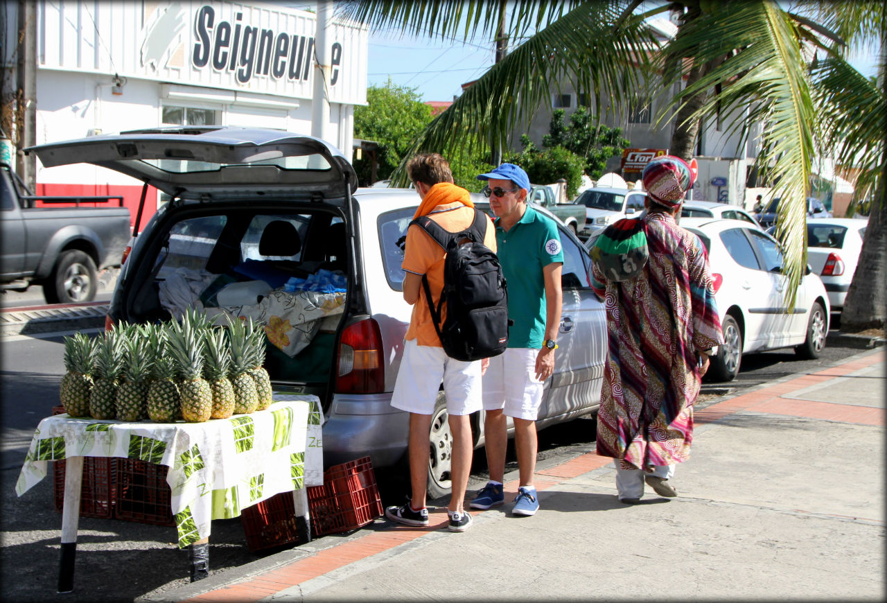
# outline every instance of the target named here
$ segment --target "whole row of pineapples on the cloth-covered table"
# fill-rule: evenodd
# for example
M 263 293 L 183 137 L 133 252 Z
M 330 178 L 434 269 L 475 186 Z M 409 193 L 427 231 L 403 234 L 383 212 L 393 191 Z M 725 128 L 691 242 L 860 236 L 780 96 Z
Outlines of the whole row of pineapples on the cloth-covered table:
M 181 322 L 121 323 L 95 339 L 65 338 L 59 394 L 72 417 L 200 423 L 271 405 L 263 329 L 213 325 L 189 309 Z

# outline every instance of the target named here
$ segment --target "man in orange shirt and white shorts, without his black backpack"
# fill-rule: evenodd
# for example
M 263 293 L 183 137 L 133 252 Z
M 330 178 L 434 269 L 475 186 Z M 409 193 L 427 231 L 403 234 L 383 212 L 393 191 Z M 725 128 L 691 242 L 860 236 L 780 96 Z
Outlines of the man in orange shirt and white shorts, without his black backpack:
M 452 183 L 450 164 L 437 153 L 417 155 L 407 163 L 407 173 L 419 192 L 420 207 L 414 218 L 428 215 L 445 231 L 464 231 L 474 222 L 475 207 L 468 192 Z M 483 244 L 496 251 L 496 232 L 491 220 Z M 462 362 L 443 352 L 428 302 L 422 291 L 422 275 L 428 276 L 432 303 L 437 306 L 443 292 L 443 260 L 446 252 L 428 232 L 412 225 L 404 246 L 404 300 L 412 305 L 410 326 L 404 336 L 404 356 L 397 372 L 391 405 L 410 413 L 408 457 L 412 497 L 401 506 L 389 506 L 386 517 L 410 526 L 427 526 L 425 505 L 428 489 L 428 435 L 440 385 L 446 395 L 448 422 L 452 432 L 452 493 L 447 514 L 449 529 L 464 532 L 472 519 L 464 508 L 468 474 L 471 471 L 472 438 L 468 415 L 480 411 L 481 375 L 488 361 Z M 483 367 L 482 367 L 483 364 Z

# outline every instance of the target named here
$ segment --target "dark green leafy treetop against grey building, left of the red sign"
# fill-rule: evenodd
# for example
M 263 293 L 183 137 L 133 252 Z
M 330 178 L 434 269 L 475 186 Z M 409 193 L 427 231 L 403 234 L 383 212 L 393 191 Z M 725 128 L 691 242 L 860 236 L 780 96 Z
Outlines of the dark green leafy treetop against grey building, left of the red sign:
M 593 180 L 603 176 L 610 157 L 621 155 L 632 145 L 622 137 L 621 128 L 595 125 L 592 114 L 584 106 L 570 115 L 569 125 L 564 123 L 563 117 L 563 109 L 554 111 L 549 133 L 542 137 L 542 146 L 546 149 L 562 146 L 576 153 L 585 159 L 585 174 Z

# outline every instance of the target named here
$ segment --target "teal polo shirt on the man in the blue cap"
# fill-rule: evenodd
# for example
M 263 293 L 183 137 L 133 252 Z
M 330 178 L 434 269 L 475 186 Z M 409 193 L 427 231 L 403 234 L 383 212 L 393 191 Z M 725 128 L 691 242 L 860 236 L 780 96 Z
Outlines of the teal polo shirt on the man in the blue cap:
M 530 205 L 521 220 L 505 231 L 496 225 L 499 264 L 508 286 L 509 348 L 541 348 L 546 341 L 546 283 L 542 269 L 563 263 L 557 224 Z

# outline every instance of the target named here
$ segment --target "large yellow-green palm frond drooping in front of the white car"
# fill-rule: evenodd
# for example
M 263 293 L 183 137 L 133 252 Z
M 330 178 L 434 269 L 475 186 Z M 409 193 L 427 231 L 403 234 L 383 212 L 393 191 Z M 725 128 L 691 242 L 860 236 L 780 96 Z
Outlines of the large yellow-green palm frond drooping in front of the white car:
M 796 23 L 769 0 L 722 4 L 720 11 L 685 23 L 663 52 L 672 63 L 684 57 L 716 67 L 671 99 L 666 111 L 702 96 L 688 120 L 715 115 L 719 103 L 746 108 L 730 116 L 734 128 L 740 121 L 765 123 L 758 161 L 776 183 L 773 196 L 781 198 L 777 235 L 787 241 L 784 271 L 793 305 L 806 267 L 805 198 L 816 123 Z M 666 83 L 680 75 L 672 73 Z M 711 95 L 716 84 L 720 92 Z

